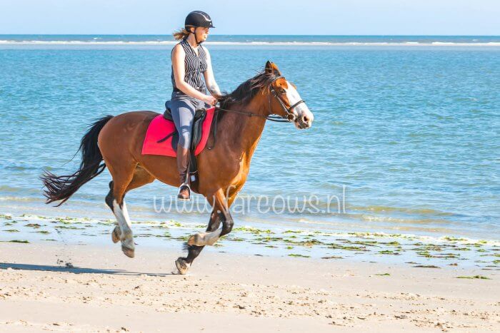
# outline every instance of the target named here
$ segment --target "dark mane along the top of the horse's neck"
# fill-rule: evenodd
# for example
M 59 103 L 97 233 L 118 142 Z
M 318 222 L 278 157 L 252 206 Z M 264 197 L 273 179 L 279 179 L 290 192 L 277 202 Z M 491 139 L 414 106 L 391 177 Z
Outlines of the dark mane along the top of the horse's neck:
M 221 108 L 227 109 L 234 104 L 245 105 L 249 103 L 259 91 L 268 87 L 275 79 L 275 73 L 266 73 L 265 71 L 257 73 L 253 78 L 249 78 L 244 83 L 241 83 L 232 93 L 224 93 L 220 96 L 219 103 L 221 103 Z M 221 112 L 219 119 L 224 113 Z

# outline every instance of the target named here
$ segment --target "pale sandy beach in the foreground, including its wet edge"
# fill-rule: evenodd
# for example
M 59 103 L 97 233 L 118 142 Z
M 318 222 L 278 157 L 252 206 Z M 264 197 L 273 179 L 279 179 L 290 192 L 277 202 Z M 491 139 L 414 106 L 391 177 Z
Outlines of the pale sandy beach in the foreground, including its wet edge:
M 181 241 L 172 239 L 177 237 L 148 245 L 146 240 L 154 235 L 137 232 L 139 245 L 131 260 L 119 245 L 111 244 L 111 225 L 106 222 L 2 217 L 2 229 L 11 230 L 10 235 L 2 234 L 0 242 L 0 330 L 4 332 L 500 329 L 498 260 L 495 265 L 467 265 L 468 260 L 460 262 L 449 254 L 444 265 L 434 255 L 411 262 L 409 253 L 379 253 L 391 250 L 368 252 L 361 260 L 345 254 L 322 259 L 279 255 L 273 252 L 276 248 L 254 240 L 227 239 L 219 247 L 207 248 L 188 275 L 176 275 L 174 260 L 183 253 Z M 81 230 L 84 225 L 86 230 Z M 20 232 L 23 236 L 41 235 L 45 240 L 16 239 L 12 230 L 26 226 L 32 231 Z M 171 234 L 175 227 L 168 226 Z M 141 229 L 144 225 L 136 225 Z M 87 236 L 71 237 L 71 232 Z M 244 237 L 243 231 L 236 234 Z M 291 237 L 295 235 L 299 232 Z M 306 251 L 325 251 L 311 243 Z M 279 247 L 275 244 L 271 246 Z M 233 253 L 236 245 L 247 251 Z M 466 246 L 498 257 L 495 245 L 489 250 L 481 249 L 481 243 Z M 358 253 L 362 247 L 334 250 Z M 386 257 L 401 257 L 406 264 Z

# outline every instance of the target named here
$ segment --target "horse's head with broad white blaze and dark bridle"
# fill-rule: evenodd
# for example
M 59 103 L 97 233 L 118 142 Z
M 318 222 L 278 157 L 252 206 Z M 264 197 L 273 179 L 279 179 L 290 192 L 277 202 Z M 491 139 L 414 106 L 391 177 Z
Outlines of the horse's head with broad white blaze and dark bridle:
M 314 115 L 302 101 L 294 83 L 286 81 L 275 63 L 267 61 L 266 73 L 272 73 L 278 78 L 269 86 L 269 103 L 272 113 L 283 118 L 289 118 L 296 128 L 310 128 Z

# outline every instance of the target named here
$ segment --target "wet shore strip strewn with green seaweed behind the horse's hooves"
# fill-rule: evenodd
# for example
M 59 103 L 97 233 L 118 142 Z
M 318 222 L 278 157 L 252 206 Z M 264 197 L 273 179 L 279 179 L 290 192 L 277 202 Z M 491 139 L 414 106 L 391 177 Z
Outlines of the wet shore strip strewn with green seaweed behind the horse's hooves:
M 0 214 L 0 244 L 63 244 L 105 246 L 111 243 L 116 223 L 89 217 Z M 134 220 L 134 241 L 142 248 L 180 250 L 206 225 L 198 220 Z M 430 237 L 405 233 L 321 231 L 285 225 L 239 222 L 214 246 L 216 252 L 311 260 L 380 262 L 404 267 L 474 268 L 483 275 L 500 271 L 500 242 L 443 235 Z

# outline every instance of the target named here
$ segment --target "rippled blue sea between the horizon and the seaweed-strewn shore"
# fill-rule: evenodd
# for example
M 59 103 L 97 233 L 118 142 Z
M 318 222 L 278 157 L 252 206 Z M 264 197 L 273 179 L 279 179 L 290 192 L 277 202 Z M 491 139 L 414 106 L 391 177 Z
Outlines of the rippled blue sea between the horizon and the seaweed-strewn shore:
M 0 213 L 111 218 L 107 171 L 59 208 L 44 205 L 39 175 L 76 170 L 95 118 L 162 112 L 173 45 L 0 35 Z M 500 36 L 210 36 L 206 47 L 222 90 L 269 59 L 315 116 L 309 130 L 266 124 L 236 225 L 499 240 Z M 208 222 L 208 212 L 157 212 L 175 195 L 159 182 L 134 190 L 132 220 Z M 259 196 L 318 209 L 261 211 Z

